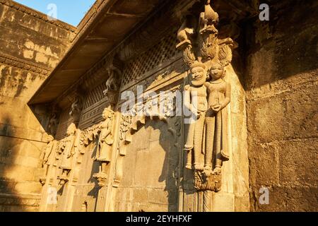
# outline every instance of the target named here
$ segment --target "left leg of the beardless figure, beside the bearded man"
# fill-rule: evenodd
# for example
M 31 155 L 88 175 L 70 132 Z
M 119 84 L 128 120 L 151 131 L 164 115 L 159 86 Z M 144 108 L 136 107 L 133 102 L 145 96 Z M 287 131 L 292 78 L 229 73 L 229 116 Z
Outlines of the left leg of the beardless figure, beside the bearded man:
M 215 119 L 215 117 L 206 117 L 206 155 L 204 157 L 204 168 L 206 170 L 212 170 Z

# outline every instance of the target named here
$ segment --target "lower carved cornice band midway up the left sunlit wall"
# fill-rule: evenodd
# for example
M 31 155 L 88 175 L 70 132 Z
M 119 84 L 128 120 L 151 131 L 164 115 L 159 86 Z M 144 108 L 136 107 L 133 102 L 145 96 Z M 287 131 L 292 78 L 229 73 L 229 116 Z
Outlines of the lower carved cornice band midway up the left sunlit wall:
M 0 63 L 14 66 L 16 68 L 23 69 L 23 70 L 33 71 L 35 73 L 40 73 L 40 74 L 45 75 L 45 76 L 47 76 L 49 74 L 49 71 L 51 71 L 51 69 L 49 69 L 45 66 L 40 66 L 40 65 L 34 64 L 30 61 L 25 61 L 25 60 L 19 59 L 17 57 L 12 57 L 12 56 L 10 56 L 8 54 L 4 54 L 2 52 L 0 52 Z

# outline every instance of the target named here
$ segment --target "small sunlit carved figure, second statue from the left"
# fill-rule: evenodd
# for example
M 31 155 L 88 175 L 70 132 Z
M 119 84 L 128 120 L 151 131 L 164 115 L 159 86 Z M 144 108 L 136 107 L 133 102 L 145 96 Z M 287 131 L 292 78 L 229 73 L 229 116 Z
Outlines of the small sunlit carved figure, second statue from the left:
M 71 123 L 66 131 L 66 138 L 64 140 L 63 147 L 61 147 L 63 151 L 63 159 L 61 162 L 62 169 L 71 169 L 72 165 L 72 157 L 75 154 L 75 133 L 76 133 L 76 126 L 75 124 Z

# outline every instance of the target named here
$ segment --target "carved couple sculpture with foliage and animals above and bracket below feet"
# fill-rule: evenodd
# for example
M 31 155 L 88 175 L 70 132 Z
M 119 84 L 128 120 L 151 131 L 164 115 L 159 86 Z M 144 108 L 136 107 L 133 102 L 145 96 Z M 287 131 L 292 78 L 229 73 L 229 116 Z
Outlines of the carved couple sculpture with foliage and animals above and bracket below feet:
M 194 169 L 197 190 L 219 191 L 222 162 L 228 155 L 228 112 L 230 84 L 223 80 L 225 66 L 232 61 L 235 42 L 219 39 L 218 13 L 206 1 L 196 19 L 187 16 L 179 28 L 177 49 L 189 66 L 189 84 L 184 87 L 184 105 L 191 112 L 188 124 L 186 168 Z

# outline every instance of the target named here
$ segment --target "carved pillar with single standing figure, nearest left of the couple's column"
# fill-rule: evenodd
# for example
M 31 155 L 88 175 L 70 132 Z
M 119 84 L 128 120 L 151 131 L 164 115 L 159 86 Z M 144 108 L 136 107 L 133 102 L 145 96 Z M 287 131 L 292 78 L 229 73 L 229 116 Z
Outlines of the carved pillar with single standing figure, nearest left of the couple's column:
M 96 211 L 109 211 L 112 201 L 112 184 L 115 183 L 114 174 L 117 166 L 117 146 L 119 143 L 118 129 L 120 114 L 114 112 L 119 96 L 119 88 L 122 79 L 121 62 L 112 57 L 111 63 L 107 66 L 106 90 L 104 95 L 110 104 L 104 109 L 98 139 L 98 149 L 95 160 L 99 162 L 99 172 L 93 177 L 97 180 L 100 190 Z

